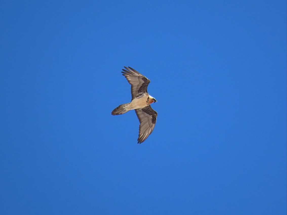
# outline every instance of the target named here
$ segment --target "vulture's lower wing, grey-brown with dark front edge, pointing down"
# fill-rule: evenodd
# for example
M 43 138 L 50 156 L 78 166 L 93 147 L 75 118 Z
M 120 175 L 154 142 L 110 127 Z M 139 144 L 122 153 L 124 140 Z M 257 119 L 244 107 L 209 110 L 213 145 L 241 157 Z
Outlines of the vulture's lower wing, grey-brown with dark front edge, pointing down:
M 154 130 L 158 113 L 152 109 L 150 105 L 141 109 L 135 109 L 135 113 L 137 114 L 137 118 L 139 118 L 140 122 L 139 138 L 137 139 L 137 143 L 142 143 Z

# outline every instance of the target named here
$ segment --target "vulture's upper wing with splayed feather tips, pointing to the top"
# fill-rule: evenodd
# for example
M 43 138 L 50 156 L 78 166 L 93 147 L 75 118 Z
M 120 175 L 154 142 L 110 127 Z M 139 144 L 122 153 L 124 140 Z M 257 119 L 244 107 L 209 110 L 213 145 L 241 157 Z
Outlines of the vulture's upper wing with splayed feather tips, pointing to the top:
M 141 73 L 131 67 L 125 67 L 122 73 L 131 84 L 131 99 L 148 92 L 147 88 L 150 80 Z

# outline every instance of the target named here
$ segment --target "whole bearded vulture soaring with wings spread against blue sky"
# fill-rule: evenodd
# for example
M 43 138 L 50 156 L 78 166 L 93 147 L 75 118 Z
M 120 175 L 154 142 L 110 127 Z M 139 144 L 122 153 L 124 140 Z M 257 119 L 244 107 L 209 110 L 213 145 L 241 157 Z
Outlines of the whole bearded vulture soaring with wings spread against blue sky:
M 158 113 L 150 106 L 151 103 L 156 102 L 156 99 L 148 94 L 149 79 L 131 67 L 125 67 L 122 73 L 131 84 L 131 102 L 119 105 L 112 111 L 112 115 L 135 110 L 140 123 L 137 143 L 142 143 L 152 133 L 156 124 Z

